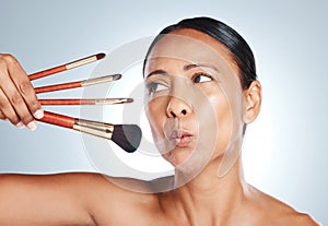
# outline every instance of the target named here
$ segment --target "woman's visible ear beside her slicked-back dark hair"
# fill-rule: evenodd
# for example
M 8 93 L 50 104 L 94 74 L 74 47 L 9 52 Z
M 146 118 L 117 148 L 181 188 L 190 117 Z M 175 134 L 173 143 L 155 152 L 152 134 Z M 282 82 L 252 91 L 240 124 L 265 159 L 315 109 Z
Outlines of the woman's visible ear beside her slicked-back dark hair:
M 246 124 L 253 122 L 261 107 L 261 84 L 259 81 L 253 81 L 247 90 L 244 91 L 245 109 L 243 120 Z

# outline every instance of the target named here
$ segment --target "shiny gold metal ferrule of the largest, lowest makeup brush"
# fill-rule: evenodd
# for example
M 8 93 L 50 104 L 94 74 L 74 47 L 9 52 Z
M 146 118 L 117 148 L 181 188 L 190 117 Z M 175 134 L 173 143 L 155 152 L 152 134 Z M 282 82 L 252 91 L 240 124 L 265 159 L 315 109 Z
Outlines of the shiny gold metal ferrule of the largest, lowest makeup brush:
M 73 129 L 87 134 L 110 140 L 114 132 L 114 124 L 77 119 L 74 121 Z

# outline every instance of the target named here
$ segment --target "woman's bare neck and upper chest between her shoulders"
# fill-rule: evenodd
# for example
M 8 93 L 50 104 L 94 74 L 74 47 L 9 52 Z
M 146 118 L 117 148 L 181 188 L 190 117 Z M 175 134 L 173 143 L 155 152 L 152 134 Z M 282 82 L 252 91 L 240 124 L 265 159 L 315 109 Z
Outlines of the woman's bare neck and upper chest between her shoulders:
M 222 177 L 218 175 L 218 162 L 209 164 L 194 180 L 173 192 L 176 203 L 190 224 L 204 219 L 221 222 L 220 216 L 233 214 L 245 200 L 247 186 L 241 157 Z M 206 225 L 212 223 L 208 222 Z

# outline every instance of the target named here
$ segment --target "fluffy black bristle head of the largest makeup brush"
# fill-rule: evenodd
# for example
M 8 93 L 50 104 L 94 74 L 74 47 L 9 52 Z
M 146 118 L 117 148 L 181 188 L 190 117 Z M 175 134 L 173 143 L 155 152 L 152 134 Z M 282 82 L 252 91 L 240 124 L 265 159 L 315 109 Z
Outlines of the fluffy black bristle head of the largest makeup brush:
M 141 129 L 137 124 L 115 124 L 112 141 L 132 153 L 139 147 L 141 135 Z

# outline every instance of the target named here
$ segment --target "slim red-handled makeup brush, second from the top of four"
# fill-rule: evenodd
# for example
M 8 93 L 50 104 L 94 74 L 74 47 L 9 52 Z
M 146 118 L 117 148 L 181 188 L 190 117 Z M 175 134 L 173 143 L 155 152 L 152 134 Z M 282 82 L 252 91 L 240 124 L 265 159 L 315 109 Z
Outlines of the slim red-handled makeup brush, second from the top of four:
M 35 87 L 34 91 L 36 94 L 40 93 L 49 93 L 55 91 L 62 91 L 62 90 L 70 90 L 70 88 L 77 88 L 77 87 L 85 87 L 89 85 L 97 85 L 106 82 L 113 82 L 116 80 L 119 80 L 121 78 L 121 74 L 112 74 L 106 76 L 99 76 L 89 80 L 82 80 L 77 82 L 69 82 L 69 83 L 62 83 L 62 84 L 56 84 L 56 85 L 48 85 L 48 86 L 42 86 L 42 87 Z

